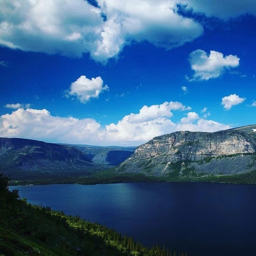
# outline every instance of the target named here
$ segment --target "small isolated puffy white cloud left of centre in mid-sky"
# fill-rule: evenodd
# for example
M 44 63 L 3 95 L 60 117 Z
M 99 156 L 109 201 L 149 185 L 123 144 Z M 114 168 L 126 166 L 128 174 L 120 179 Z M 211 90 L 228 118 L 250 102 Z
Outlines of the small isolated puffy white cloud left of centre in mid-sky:
M 86 103 L 90 98 L 98 98 L 104 90 L 109 90 L 109 87 L 108 85 L 103 87 L 100 76 L 88 79 L 85 75 L 81 75 L 70 85 L 70 91 L 66 91 L 66 96 L 76 96 L 82 103 Z

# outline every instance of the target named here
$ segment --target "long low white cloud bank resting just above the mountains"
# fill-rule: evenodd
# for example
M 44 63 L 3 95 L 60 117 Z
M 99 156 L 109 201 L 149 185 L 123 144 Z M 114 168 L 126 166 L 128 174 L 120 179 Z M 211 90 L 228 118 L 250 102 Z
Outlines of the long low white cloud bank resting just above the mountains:
M 46 142 L 139 145 L 155 136 L 177 130 L 216 131 L 230 126 L 199 118 L 195 112 L 173 123 L 170 111 L 187 111 L 180 102 L 143 106 L 138 114 L 124 116 L 117 124 L 101 126 L 95 119 L 52 116 L 45 109 L 18 109 L 0 118 L 0 137 L 19 137 Z M 156 110 L 157 113 L 149 113 Z

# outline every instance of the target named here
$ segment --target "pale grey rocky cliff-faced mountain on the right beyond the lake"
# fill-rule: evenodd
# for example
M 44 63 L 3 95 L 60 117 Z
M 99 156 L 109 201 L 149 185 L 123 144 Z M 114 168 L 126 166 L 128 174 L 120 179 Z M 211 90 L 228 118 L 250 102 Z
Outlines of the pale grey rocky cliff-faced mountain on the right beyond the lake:
M 256 170 L 256 125 L 217 132 L 177 131 L 140 145 L 117 173 L 197 177 Z

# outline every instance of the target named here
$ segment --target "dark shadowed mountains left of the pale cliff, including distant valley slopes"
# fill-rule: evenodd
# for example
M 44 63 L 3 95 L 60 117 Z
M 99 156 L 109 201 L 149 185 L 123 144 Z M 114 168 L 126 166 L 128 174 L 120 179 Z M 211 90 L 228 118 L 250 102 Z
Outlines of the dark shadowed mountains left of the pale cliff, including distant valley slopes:
M 133 153 L 126 147 L 124 151 L 117 148 L 0 138 L 0 172 L 13 179 L 85 175 L 118 165 Z

